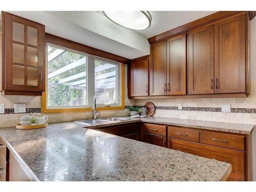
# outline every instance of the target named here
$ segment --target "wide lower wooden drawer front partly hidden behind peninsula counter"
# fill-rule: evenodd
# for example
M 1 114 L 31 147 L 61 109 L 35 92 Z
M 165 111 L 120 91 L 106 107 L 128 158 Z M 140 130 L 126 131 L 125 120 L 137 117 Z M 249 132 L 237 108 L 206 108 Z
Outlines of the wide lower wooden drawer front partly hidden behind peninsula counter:
M 173 150 L 230 163 L 232 165 L 232 171 L 229 177 L 244 181 L 244 152 L 177 139 L 171 139 L 171 141 L 169 141 L 169 139 L 170 138 L 168 138 L 168 147 L 169 143 L 171 143 Z

